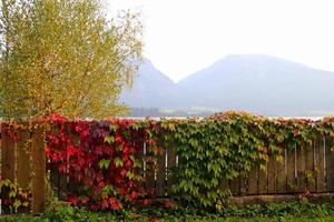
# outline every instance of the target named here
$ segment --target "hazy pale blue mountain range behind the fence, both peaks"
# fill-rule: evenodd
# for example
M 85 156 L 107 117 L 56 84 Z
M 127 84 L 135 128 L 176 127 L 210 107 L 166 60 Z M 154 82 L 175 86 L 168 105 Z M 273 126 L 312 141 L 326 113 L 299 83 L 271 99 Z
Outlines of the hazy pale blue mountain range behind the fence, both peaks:
M 176 84 L 151 63 L 140 73 L 145 77 L 139 74 L 132 93 L 141 102 L 127 100 L 131 107 L 246 110 L 267 115 L 334 113 L 333 72 L 276 57 L 228 56 Z

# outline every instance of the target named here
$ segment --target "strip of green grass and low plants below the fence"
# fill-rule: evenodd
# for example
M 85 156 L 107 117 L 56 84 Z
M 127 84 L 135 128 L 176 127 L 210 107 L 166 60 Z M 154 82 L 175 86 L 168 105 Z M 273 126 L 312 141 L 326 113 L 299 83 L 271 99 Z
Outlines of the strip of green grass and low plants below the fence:
M 308 202 L 288 202 L 246 208 L 229 206 L 220 212 L 208 213 L 194 208 L 166 210 L 161 208 L 128 209 L 121 212 L 91 212 L 82 208 L 62 205 L 57 211 L 49 210 L 39 216 L 7 215 L 0 221 L 151 221 L 151 222 L 265 222 L 265 221 L 334 221 L 334 202 L 314 204 Z

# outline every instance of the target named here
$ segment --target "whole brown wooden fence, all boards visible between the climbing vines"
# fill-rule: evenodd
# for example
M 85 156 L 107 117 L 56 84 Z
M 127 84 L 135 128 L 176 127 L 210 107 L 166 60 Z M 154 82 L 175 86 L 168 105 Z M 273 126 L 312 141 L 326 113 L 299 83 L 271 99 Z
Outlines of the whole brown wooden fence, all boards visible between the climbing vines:
M 332 147 L 331 140 L 321 137 L 308 149 L 285 150 L 283 161 L 269 159 L 266 172 L 253 169 L 245 176 L 222 182 L 222 186 L 229 188 L 235 196 L 334 192 Z M 22 188 L 31 188 L 32 213 L 43 212 L 46 204 L 48 172 L 43 148 L 45 133 L 41 128 L 31 131 L 19 130 L 18 142 L 13 142 L 6 133 L 1 134 L 1 178 L 17 181 Z M 141 155 L 150 155 L 146 144 L 143 144 Z M 166 149 L 159 154 L 155 162 L 156 168 L 148 168 L 147 164 L 144 162 L 143 169 L 146 186 L 155 189 L 156 198 L 170 196 L 175 182 L 170 176 L 170 169 L 178 165 L 174 150 Z M 50 180 L 58 188 L 68 186 L 68 180 L 61 179 L 56 171 L 51 172 Z

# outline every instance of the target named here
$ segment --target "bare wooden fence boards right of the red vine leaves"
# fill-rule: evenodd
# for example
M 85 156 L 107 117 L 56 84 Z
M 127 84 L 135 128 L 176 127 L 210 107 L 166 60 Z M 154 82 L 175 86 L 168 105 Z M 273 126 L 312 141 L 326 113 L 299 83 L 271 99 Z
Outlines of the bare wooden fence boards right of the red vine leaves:
M 229 188 L 235 196 L 334 192 L 334 152 L 331 148 L 333 142 L 321 137 L 307 149 L 286 149 L 282 161 L 269 158 L 266 171 L 255 168 L 247 175 L 220 182 L 220 185 Z M 149 155 L 146 152 L 144 144 L 143 154 Z M 144 163 L 147 186 L 155 188 L 155 196 L 170 196 L 175 181 L 169 172 L 177 164 L 173 149 L 158 155 L 156 170 Z

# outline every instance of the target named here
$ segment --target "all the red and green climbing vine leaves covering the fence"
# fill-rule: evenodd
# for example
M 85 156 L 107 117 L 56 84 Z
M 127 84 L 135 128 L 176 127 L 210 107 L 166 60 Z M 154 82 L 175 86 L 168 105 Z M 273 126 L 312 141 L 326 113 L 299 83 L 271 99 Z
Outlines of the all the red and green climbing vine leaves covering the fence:
M 170 198 L 180 205 L 220 211 L 230 195 L 228 181 L 247 175 L 255 167 L 265 170 L 269 158 L 283 161 L 285 149 L 310 149 L 320 137 L 334 138 L 334 118 L 269 119 L 245 112 L 160 121 L 68 120 L 53 114 L 39 121 L 49 125 L 46 154 L 50 169 L 75 184 L 67 200 L 94 210 L 119 211 L 138 201 L 147 205 L 151 191 L 144 186 L 144 162 L 150 170 L 163 149 L 173 149 L 178 157 L 168 174 L 175 178 Z M 18 128 L 7 124 L 6 129 Z

